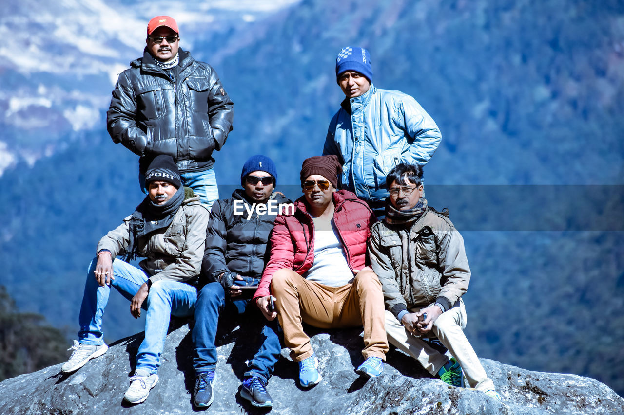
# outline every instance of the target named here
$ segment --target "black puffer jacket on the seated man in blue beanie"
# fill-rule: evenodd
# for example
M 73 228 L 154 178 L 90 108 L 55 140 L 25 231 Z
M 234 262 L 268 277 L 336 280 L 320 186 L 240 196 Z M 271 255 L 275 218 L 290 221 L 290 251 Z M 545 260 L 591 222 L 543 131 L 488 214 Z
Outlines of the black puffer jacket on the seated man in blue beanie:
M 206 237 L 206 250 L 203 254 L 203 282 L 217 281 L 223 272 L 236 272 L 241 277 L 260 279 L 265 267 L 265 250 L 269 234 L 273 229 L 275 214 L 253 212 L 250 219 L 240 204 L 234 214 L 234 201 L 251 208 L 243 189 L 236 189 L 232 198 L 216 201 L 212 205 Z M 281 193 L 271 194 L 269 203 L 278 205 L 290 203 Z

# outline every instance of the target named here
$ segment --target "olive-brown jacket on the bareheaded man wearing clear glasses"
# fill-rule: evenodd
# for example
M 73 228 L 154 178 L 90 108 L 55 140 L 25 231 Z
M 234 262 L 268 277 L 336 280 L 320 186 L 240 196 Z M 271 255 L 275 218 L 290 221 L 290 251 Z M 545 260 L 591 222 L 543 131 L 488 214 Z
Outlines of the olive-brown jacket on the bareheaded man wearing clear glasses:
M 446 311 L 470 282 L 464 239 L 446 216 L 431 210 L 409 229 L 384 221 L 374 224 L 368 254 L 386 308 L 395 316 L 436 302 Z

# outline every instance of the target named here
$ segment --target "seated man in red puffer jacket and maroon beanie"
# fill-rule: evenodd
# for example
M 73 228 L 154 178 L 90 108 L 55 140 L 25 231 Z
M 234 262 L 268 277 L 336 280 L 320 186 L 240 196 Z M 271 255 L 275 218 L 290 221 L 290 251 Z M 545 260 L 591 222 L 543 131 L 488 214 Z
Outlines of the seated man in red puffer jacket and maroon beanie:
M 366 360 L 356 370 L 363 376 L 379 376 L 388 351 L 381 283 L 366 265 L 375 216 L 355 194 L 335 190 L 340 171 L 334 155 L 303 161 L 303 196 L 294 214 L 275 219 L 270 259 L 254 295 L 268 320 L 279 318 L 303 387 L 318 384 L 321 374 L 302 322 L 319 328 L 364 325 Z

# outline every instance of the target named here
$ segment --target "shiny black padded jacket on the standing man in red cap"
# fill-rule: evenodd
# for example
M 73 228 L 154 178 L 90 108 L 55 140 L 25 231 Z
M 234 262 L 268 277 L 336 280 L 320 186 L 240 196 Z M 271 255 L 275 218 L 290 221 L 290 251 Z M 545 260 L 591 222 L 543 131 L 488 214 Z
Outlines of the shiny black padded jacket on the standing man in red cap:
M 175 81 L 147 50 L 130 62 L 112 92 L 107 128 L 115 143 L 141 156 L 141 166 L 166 154 L 184 173 L 213 165 L 212 151 L 232 131 L 233 103 L 210 65 L 178 54 Z

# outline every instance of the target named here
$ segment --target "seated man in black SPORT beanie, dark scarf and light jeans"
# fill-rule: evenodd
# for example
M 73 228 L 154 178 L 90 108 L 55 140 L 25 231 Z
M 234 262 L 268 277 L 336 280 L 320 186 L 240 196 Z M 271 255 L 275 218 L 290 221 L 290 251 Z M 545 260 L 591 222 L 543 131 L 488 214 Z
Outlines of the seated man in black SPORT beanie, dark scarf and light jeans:
M 145 340 L 124 395 L 129 403 L 145 401 L 158 381 L 170 315 L 193 315 L 208 224 L 208 210 L 191 189 L 182 186 L 171 156 L 154 158 L 145 183 L 148 196 L 134 214 L 97 244 L 80 307 L 79 340 L 74 340 L 72 355 L 61 367 L 71 373 L 106 353 L 102 315 L 110 287 L 115 287 L 131 301 L 134 318 L 140 317 L 141 308 L 147 310 Z M 125 254 L 124 260 L 115 258 L 121 254 Z M 140 269 L 128 263 L 135 257 L 145 258 Z

